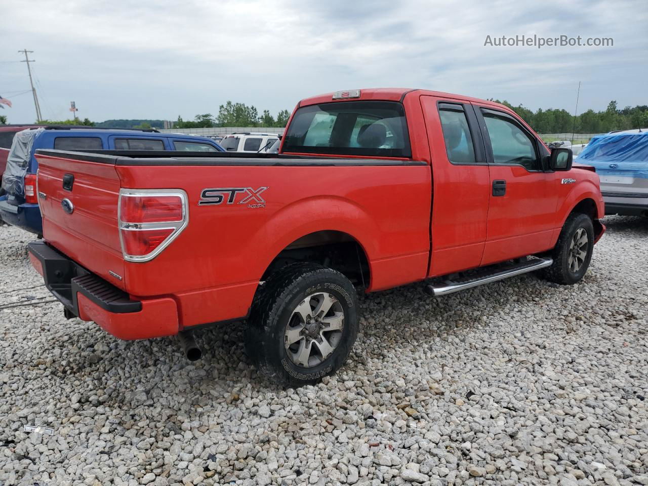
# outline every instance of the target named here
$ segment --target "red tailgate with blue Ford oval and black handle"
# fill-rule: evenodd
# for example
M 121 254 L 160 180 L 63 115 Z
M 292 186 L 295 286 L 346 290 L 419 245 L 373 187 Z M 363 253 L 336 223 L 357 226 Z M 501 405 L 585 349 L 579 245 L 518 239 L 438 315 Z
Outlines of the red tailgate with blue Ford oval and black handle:
M 43 238 L 87 270 L 124 289 L 115 157 L 74 156 L 36 152 Z

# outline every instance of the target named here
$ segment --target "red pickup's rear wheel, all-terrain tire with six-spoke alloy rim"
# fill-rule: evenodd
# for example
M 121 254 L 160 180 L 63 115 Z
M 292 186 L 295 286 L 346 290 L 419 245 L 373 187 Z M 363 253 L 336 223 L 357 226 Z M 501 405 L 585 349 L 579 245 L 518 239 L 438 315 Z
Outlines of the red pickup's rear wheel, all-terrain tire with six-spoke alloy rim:
M 273 273 L 259 292 L 246 351 L 260 373 L 296 387 L 340 369 L 358 335 L 358 300 L 347 277 L 296 263 Z

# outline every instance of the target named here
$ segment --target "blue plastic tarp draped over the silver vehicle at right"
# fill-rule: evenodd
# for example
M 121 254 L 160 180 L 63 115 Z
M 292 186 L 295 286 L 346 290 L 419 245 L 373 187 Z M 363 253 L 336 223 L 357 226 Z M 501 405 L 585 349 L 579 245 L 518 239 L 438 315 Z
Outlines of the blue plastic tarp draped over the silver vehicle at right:
M 648 132 L 597 135 L 577 160 L 599 173 L 648 179 Z

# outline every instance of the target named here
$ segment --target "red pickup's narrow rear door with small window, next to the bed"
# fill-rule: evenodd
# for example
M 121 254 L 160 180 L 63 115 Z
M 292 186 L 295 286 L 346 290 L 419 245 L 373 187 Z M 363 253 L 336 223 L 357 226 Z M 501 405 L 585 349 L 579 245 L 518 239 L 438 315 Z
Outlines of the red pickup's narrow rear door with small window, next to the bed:
M 480 265 L 491 179 L 480 128 L 469 103 L 422 96 L 432 152 L 432 258 L 428 275 Z

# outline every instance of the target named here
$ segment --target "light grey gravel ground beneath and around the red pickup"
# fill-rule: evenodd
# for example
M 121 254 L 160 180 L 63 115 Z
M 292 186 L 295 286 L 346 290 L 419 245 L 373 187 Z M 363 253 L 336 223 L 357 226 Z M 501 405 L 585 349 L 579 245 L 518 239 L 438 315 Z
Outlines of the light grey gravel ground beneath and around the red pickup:
M 362 297 L 323 384 L 281 390 L 242 327 L 124 342 L 62 306 L 1 310 L 0 485 L 648 485 L 648 220 L 607 218 L 584 281 Z M 46 297 L 0 227 L 0 305 Z M 54 435 L 25 433 L 44 424 Z

